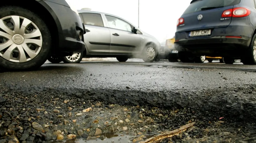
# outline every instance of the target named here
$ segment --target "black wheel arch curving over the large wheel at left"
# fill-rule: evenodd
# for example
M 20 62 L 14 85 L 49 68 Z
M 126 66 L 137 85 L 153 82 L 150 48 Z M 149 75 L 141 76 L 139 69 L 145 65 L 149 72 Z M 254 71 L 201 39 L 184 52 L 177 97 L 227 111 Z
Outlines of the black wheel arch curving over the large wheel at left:
M 58 45 L 59 45 L 59 35 L 58 35 L 59 30 L 57 28 L 57 23 L 59 23 L 59 25 L 60 25 L 60 22 L 58 21 L 57 18 L 55 18 L 56 20 L 54 20 L 54 18 L 53 18 L 54 12 L 50 13 L 49 11 L 51 11 L 51 9 L 47 9 L 46 8 L 47 6 L 42 5 L 42 3 L 45 3 L 45 2 L 38 1 L 38 0 L 26 0 L 26 2 L 23 2 L 23 1 L 15 1 L 15 2 L 1 1 L 2 6 L 23 7 L 23 8 L 26 8 L 26 9 L 34 12 L 38 16 L 40 16 L 40 18 L 42 18 L 42 20 L 45 22 L 45 24 L 47 25 L 47 27 L 51 33 L 52 47 L 58 47 Z M 48 7 L 48 8 L 50 8 L 50 7 Z M 52 48 L 52 50 L 53 49 L 55 49 L 55 48 Z

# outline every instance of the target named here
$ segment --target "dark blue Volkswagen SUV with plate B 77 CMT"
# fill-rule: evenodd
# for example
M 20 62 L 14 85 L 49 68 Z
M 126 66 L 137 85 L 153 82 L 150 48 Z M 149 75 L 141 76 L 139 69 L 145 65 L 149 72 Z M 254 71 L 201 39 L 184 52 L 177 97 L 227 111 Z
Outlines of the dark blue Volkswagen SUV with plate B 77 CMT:
M 256 64 L 254 0 L 192 0 L 177 21 L 175 48 L 182 62 L 200 56 L 224 57 L 232 64 Z

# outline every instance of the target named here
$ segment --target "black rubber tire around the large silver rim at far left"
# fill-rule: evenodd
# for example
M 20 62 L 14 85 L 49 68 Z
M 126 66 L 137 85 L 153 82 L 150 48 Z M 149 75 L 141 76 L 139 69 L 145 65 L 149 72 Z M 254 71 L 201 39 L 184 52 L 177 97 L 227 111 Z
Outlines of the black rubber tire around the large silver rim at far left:
M 50 49 L 52 47 L 51 34 L 44 23 L 44 21 L 40 18 L 40 16 L 35 13 L 29 11 L 26 8 L 18 7 L 18 6 L 2 6 L 0 7 L 0 18 L 5 16 L 22 16 L 25 17 L 32 22 L 34 22 L 38 29 L 42 34 L 42 48 L 38 55 L 27 62 L 11 62 L 0 56 L 0 69 L 4 71 L 28 71 L 35 70 L 46 62 L 47 58 L 50 56 Z

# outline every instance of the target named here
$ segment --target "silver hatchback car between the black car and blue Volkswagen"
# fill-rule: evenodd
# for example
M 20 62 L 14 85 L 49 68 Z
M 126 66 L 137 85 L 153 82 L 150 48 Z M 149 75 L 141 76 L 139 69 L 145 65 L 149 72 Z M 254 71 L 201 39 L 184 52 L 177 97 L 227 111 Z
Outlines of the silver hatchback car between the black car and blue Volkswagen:
M 82 58 L 113 57 L 120 62 L 142 58 L 153 62 L 160 53 L 160 42 L 125 19 L 102 12 L 78 10 L 85 24 L 86 50 L 63 57 L 65 63 L 79 63 Z

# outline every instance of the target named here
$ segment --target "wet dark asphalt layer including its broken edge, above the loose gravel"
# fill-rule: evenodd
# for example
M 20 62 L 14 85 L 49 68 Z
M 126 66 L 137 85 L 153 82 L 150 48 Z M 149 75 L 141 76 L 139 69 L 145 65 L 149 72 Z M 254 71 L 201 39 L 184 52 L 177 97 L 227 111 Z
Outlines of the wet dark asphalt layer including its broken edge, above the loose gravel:
M 246 69 L 256 66 L 239 62 L 46 62 L 37 71 L 0 73 L 0 87 L 14 94 L 52 93 L 107 104 L 194 108 L 252 121 L 256 118 L 256 76 Z

